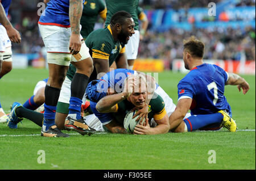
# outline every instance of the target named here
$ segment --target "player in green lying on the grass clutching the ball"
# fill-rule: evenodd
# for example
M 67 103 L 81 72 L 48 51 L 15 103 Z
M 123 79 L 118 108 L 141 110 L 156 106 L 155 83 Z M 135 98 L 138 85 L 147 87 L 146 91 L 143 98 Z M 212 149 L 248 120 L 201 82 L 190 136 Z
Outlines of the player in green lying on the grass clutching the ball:
M 135 77 L 138 81 L 135 81 L 133 76 L 129 76 L 129 79 L 133 79 L 130 83 L 125 83 L 125 91 L 106 95 L 101 98 L 96 104 L 96 110 L 100 113 L 112 113 L 113 120 L 110 123 L 105 124 L 105 127 L 112 133 L 127 133 L 123 128 L 123 120 L 126 113 L 132 109 L 142 109 L 147 100 L 147 83 L 146 78 L 143 76 Z M 138 82 L 138 83 L 131 83 Z M 151 121 L 154 119 L 157 124 L 156 127 L 150 127 Z M 148 103 L 148 116 L 143 124 L 136 125 L 134 134 L 162 134 L 169 131 L 170 125 L 168 123 L 168 115 L 166 112 L 164 100 L 161 96 L 154 93 L 152 99 Z

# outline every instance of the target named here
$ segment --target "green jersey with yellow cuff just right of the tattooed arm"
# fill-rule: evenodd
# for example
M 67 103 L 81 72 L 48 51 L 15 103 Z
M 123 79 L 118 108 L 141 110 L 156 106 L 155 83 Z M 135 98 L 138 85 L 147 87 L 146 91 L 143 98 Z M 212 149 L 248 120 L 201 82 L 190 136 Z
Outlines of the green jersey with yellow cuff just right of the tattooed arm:
M 90 32 L 93 31 L 94 24 L 97 22 L 98 15 L 106 19 L 106 7 L 103 0 L 86 0 L 80 24 L 82 26 L 81 35 L 86 39 Z

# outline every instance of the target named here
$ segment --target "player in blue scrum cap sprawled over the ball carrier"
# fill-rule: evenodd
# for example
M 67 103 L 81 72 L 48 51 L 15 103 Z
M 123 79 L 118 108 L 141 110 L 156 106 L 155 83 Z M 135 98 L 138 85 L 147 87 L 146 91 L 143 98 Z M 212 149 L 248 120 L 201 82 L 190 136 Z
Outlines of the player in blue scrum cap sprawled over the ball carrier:
M 106 73 L 99 80 L 92 81 L 88 84 L 88 87 L 86 89 L 86 96 L 90 100 L 90 108 L 94 110 L 94 113 L 96 113 L 96 116 L 98 116 L 98 119 L 100 119 L 102 124 L 104 125 L 108 124 L 108 121 L 111 121 L 113 117 L 111 113 L 100 113 L 96 110 L 96 104 L 98 100 L 100 100 L 106 95 L 112 95 L 112 94 L 117 94 L 122 92 L 124 81 L 127 77 L 133 76 L 133 75 L 134 76 L 141 75 L 141 74 L 144 75 L 144 73 L 141 73 L 139 71 L 128 70 L 128 69 L 115 69 L 110 71 L 109 73 Z M 174 112 L 176 107 L 175 104 L 172 102 L 172 99 L 166 94 L 166 92 L 157 83 L 155 83 L 155 79 L 153 77 L 151 77 L 148 74 L 145 76 L 148 82 L 148 86 L 147 86 L 148 91 L 153 92 L 155 90 L 156 94 L 160 95 L 163 98 L 164 104 L 166 105 L 167 115 L 170 116 L 171 113 Z M 150 99 L 148 100 L 150 101 Z M 147 104 L 144 104 L 144 107 L 140 109 L 133 117 L 136 117 L 137 115 L 139 115 L 139 117 L 142 117 L 143 119 L 143 117 L 148 113 Z M 85 117 L 86 124 L 94 128 L 94 123 L 97 123 L 97 120 L 98 120 L 96 116 Z M 190 113 L 188 113 L 188 116 L 190 116 Z M 139 117 L 137 118 L 137 120 L 139 120 Z M 150 123 L 151 123 L 151 120 L 150 120 Z M 69 123 L 65 124 L 65 127 L 67 129 L 71 128 L 77 132 L 82 133 L 81 128 L 78 128 L 78 127 L 72 128 L 72 126 L 73 125 Z M 104 126 L 104 128 L 106 127 Z M 96 130 L 98 131 L 97 128 Z

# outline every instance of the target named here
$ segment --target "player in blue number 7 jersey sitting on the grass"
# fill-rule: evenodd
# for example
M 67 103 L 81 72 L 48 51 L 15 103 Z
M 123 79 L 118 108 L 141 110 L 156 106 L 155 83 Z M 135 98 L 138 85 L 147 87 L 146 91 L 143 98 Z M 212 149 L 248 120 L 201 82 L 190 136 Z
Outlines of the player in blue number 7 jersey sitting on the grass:
M 178 102 L 170 116 L 170 130 L 187 132 L 196 129 L 217 130 L 221 127 L 236 132 L 232 111 L 224 96 L 225 85 L 237 85 L 243 94 L 250 89 L 245 79 L 234 73 L 227 73 L 217 65 L 203 62 L 204 43 L 190 37 L 184 40 L 183 60 L 189 73 L 181 79 L 178 88 Z M 191 117 L 184 115 L 191 110 Z

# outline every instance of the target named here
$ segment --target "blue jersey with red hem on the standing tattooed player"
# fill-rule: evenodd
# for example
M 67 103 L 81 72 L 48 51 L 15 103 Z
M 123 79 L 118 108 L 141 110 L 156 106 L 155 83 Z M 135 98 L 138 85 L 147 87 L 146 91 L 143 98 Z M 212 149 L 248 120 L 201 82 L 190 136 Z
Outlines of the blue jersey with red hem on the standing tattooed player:
M 81 0 L 84 5 L 85 0 Z M 38 24 L 54 25 L 68 28 L 69 23 L 69 0 L 51 0 L 40 16 Z

